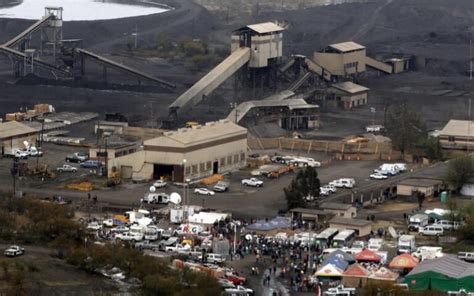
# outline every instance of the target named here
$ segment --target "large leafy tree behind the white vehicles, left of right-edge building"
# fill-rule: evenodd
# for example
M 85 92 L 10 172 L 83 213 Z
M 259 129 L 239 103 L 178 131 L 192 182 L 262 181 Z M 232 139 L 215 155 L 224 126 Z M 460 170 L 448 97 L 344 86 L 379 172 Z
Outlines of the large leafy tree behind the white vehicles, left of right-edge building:
M 385 129 L 392 145 L 402 154 L 426 136 L 424 125 L 416 112 L 405 104 L 389 106 L 386 110 Z

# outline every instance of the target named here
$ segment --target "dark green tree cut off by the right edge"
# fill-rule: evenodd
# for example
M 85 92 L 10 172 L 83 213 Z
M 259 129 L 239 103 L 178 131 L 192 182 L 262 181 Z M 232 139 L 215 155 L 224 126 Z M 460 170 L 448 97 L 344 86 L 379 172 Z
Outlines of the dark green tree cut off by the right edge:
M 444 180 L 455 192 L 459 192 L 464 184 L 474 176 L 474 159 L 466 155 L 452 159 L 448 163 Z

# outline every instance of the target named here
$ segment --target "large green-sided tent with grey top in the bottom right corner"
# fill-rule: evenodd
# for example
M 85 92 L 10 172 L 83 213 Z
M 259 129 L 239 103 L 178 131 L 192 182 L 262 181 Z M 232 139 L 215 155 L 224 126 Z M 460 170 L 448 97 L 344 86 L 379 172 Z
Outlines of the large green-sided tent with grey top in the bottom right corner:
M 443 256 L 420 263 L 405 277 L 410 290 L 474 292 L 474 264 L 454 256 Z

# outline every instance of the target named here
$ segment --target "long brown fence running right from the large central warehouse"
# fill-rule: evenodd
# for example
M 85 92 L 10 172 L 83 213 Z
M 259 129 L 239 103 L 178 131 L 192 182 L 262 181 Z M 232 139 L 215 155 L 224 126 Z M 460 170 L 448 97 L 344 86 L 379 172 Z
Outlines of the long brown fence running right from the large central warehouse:
M 324 152 L 336 154 L 338 159 L 400 159 L 401 153 L 392 149 L 391 142 L 359 142 L 304 140 L 297 138 L 254 138 L 248 139 L 250 150 L 289 150 L 306 153 Z

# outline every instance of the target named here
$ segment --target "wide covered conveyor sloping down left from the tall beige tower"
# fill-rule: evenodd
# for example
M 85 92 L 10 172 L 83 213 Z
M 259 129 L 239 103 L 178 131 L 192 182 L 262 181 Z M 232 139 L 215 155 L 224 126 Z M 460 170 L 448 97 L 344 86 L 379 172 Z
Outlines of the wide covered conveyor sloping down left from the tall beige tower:
M 196 82 L 169 106 L 171 112 L 185 112 L 202 101 L 250 59 L 250 48 L 241 47 Z

